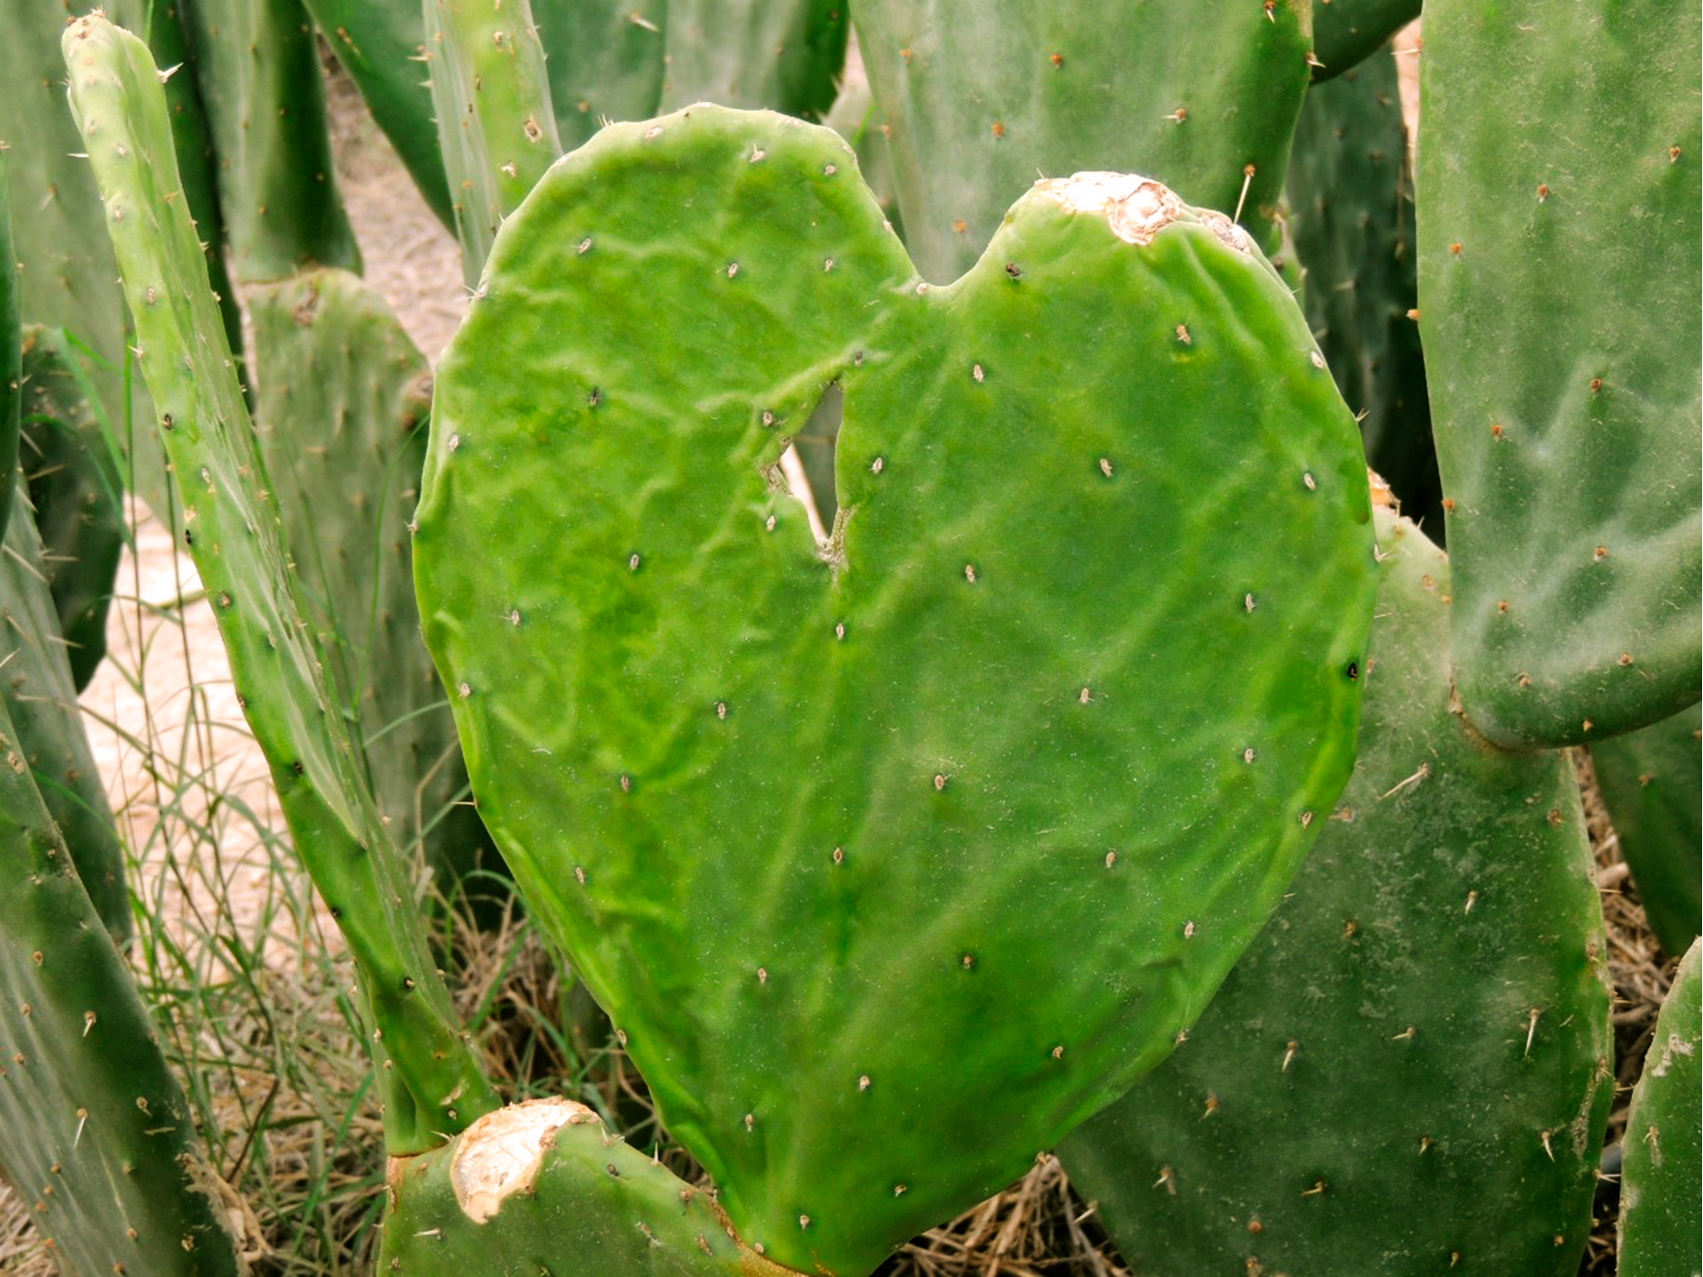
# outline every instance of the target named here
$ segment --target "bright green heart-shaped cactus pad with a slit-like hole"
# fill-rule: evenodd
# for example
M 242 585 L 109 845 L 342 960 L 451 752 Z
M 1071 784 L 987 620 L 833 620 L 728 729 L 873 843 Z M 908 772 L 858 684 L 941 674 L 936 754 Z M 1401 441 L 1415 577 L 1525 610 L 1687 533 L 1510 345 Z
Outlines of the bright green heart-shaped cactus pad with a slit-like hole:
M 817 540 L 782 455 L 833 383 Z M 932 286 L 828 129 L 605 128 L 497 237 L 416 518 L 480 814 L 802 1272 L 1170 1052 L 1350 770 L 1354 421 L 1259 250 L 1146 179 L 1037 182 Z

